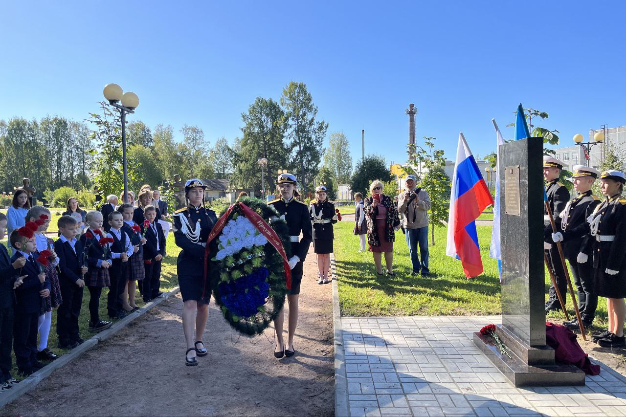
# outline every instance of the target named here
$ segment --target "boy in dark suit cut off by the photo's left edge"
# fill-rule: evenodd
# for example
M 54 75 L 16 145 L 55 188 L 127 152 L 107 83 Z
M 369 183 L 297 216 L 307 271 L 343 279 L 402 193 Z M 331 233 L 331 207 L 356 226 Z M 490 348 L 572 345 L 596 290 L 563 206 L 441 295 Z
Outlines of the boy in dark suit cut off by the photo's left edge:
M 0 213 L 0 240 L 6 235 L 7 219 Z M 15 303 L 13 287 L 16 282 L 18 269 L 26 264 L 26 258 L 21 257 L 11 263 L 11 257 L 3 244 L 0 244 L 0 386 L 3 391 L 11 387 L 14 381 L 11 376 L 13 361 L 13 304 Z M 24 279 L 25 277 L 22 277 Z

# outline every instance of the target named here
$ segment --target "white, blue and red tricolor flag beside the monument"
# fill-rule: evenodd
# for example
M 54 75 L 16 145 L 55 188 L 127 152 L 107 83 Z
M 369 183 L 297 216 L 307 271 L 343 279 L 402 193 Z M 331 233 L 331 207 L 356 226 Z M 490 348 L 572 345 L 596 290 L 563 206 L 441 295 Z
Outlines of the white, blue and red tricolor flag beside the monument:
M 475 220 L 488 205 L 493 205 L 493 198 L 463 133 L 460 133 L 450 193 L 446 254 L 461 260 L 468 278 L 483 272 Z

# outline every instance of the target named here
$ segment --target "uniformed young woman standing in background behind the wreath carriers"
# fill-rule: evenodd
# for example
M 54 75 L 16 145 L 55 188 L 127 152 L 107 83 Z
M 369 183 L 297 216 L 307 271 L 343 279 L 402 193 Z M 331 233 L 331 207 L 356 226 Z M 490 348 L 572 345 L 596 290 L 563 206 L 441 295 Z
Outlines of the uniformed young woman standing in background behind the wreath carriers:
M 317 254 L 319 279 L 317 284 L 326 284 L 331 269 L 332 225 L 337 223 L 335 205 L 328 201 L 328 193 L 324 185 L 315 189 L 316 199 L 310 203 L 309 211 L 313 222 L 313 247 Z

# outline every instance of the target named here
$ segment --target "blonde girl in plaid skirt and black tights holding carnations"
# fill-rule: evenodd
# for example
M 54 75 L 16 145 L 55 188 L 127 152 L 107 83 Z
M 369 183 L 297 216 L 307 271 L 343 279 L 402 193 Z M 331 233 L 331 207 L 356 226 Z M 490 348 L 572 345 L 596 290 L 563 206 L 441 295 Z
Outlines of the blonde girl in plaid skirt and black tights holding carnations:
M 81 235 L 80 242 L 85 248 L 83 260 L 86 259 L 87 274 L 85 275 L 85 286 L 89 289 L 89 329 L 92 332 L 99 332 L 111 327 L 110 321 L 100 320 L 100 296 L 102 289 L 111 285 L 109 277 L 109 267 L 113 263 L 111 252 L 108 246 L 101 245 L 100 239 L 105 237 L 106 232 L 102 229 L 102 214 L 91 211 L 87 214 L 85 223 L 87 227 L 85 233 Z

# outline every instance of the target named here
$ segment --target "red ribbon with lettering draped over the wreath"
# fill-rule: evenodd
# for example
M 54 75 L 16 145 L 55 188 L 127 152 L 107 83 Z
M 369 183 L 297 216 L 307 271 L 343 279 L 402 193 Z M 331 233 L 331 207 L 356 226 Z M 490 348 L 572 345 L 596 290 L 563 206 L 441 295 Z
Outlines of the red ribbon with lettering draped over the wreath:
M 235 204 L 228 207 L 228 210 L 217 220 L 213 229 L 211 229 L 211 233 L 208 235 L 207 246 L 204 250 L 204 288 L 202 290 L 202 298 L 207 295 L 207 270 L 208 270 L 208 255 L 211 250 L 209 249 L 209 244 L 212 242 L 215 237 L 222 231 L 226 223 L 228 222 L 228 216 L 232 213 L 235 206 L 239 205 L 240 209 L 244 213 L 245 217 L 250 220 L 257 230 L 259 230 L 260 234 L 265 236 L 272 246 L 277 250 L 282 257 L 282 264 L 285 268 L 285 283 L 287 284 L 287 289 L 291 289 L 291 268 L 289 267 L 289 260 L 287 259 L 287 254 L 285 253 L 285 248 L 282 245 L 282 240 L 280 240 L 279 235 L 272 229 L 272 227 L 265 222 L 263 217 L 257 214 L 254 210 L 250 209 L 247 205 L 242 202 L 236 202 Z

